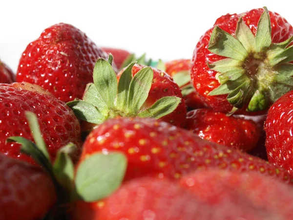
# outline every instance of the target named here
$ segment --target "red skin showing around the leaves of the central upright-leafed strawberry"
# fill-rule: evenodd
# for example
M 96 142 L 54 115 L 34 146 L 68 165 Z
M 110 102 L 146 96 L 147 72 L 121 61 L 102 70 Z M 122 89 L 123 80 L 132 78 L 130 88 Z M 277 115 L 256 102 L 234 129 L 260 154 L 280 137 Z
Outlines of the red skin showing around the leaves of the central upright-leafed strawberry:
M 143 67 L 145 66 L 134 65 L 132 67 L 132 75 L 134 76 Z M 186 105 L 180 88 L 166 72 L 154 67 L 151 68 L 154 72 L 154 77 L 144 107 L 148 108 L 152 106 L 156 101 L 165 96 L 177 96 L 182 99 L 181 103 L 172 113 L 162 117 L 161 120 L 175 126 L 184 127 L 186 121 Z M 119 72 L 118 79 L 122 72 L 123 70 Z

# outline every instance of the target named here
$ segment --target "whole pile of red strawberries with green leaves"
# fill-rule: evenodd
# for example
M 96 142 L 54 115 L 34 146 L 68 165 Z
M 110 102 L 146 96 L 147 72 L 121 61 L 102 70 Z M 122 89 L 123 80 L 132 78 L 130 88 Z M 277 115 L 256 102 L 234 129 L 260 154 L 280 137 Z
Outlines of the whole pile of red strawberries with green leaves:
M 266 7 L 167 63 L 45 29 L 0 62 L 0 219 L 291 220 L 292 43 Z

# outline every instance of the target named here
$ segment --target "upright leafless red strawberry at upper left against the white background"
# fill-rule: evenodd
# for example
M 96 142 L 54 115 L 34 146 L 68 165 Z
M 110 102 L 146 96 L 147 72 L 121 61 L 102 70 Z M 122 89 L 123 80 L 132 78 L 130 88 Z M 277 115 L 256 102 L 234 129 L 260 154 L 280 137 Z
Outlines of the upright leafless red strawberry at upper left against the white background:
M 45 29 L 28 44 L 17 71 L 17 82 L 37 84 L 58 99 L 68 102 L 82 98 L 92 71 L 106 53 L 76 27 L 59 23 Z

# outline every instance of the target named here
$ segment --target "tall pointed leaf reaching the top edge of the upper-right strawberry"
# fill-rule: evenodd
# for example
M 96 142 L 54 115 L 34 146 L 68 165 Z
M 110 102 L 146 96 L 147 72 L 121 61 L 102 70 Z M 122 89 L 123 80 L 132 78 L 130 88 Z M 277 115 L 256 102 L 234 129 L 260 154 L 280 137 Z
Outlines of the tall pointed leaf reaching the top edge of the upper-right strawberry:
M 264 12 L 260 16 L 257 25 L 257 31 L 255 35 L 255 50 L 256 52 L 263 52 L 265 49 L 269 48 L 272 44 L 272 27 L 270 14 L 266 7 L 264 7 Z

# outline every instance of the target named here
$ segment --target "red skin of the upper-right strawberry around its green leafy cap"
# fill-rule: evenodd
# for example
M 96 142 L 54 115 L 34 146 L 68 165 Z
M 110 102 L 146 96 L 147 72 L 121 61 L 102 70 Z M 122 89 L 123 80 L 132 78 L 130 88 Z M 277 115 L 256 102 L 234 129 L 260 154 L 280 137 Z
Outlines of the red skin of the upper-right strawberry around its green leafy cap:
M 257 24 L 263 9 L 253 9 L 243 14 L 225 15 L 219 18 L 214 25 L 218 25 L 223 30 L 234 35 L 236 24 L 240 16 L 248 24 L 252 33 L 255 35 Z M 279 14 L 270 12 L 272 26 L 272 43 L 280 43 L 287 40 L 293 34 L 293 27 Z M 232 109 L 230 103 L 226 100 L 227 95 L 208 96 L 209 92 L 220 86 L 216 79 L 217 71 L 209 69 L 207 62 L 213 63 L 224 57 L 215 55 L 208 50 L 209 39 L 213 28 L 210 28 L 197 43 L 191 62 L 191 78 L 193 86 L 202 98 L 205 105 L 215 111 L 229 112 Z M 242 114 L 247 114 L 243 108 Z M 263 112 L 259 112 L 263 114 Z

